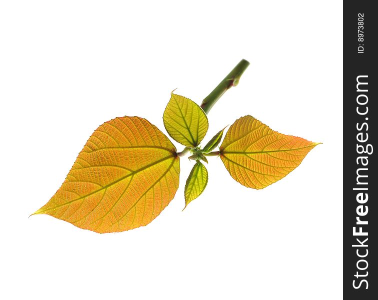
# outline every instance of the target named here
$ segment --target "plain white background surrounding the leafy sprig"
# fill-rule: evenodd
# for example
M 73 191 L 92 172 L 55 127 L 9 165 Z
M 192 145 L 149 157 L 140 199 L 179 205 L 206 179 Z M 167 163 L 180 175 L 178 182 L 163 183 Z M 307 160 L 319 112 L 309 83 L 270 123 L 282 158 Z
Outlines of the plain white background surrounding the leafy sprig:
M 341 298 L 341 1 L 1 1 L 0 298 Z M 148 119 L 177 88 L 197 103 L 241 59 L 207 140 L 251 114 L 323 142 L 262 190 L 193 162 L 149 225 L 97 234 L 29 214 L 59 188 L 102 122 Z M 177 149 L 182 146 L 175 143 Z

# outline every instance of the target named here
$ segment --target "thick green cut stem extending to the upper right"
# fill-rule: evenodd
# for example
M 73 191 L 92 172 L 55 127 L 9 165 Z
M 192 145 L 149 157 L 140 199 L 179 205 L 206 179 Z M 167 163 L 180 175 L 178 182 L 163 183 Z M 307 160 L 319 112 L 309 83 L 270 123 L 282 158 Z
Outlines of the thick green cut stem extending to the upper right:
M 238 64 L 228 73 L 227 76 L 205 97 L 202 101 L 201 107 L 204 112 L 208 113 L 215 102 L 224 94 L 224 92 L 239 83 L 241 74 L 248 67 L 249 62 L 241 59 Z

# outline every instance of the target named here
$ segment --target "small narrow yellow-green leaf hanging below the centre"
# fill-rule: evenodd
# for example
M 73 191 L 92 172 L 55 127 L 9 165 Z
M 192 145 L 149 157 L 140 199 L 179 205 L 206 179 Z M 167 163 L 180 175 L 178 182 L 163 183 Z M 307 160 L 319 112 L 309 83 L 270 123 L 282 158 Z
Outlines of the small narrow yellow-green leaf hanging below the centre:
M 205 189 L 208 180 L 208 173 L 205 166 L 197 160 L 190 171 L 185 184 L 185 207 L 189 202 L 198 197 Z M 184 209 L 185 209 L 184 207 Z

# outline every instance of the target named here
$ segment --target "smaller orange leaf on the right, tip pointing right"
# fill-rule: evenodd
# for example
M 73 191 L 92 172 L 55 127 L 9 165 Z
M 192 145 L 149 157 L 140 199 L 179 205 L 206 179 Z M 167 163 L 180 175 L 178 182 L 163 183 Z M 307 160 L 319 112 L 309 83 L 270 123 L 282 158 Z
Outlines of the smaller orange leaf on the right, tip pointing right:
M 259 189 L 286 176 L 317 144 L 273 131 L 246 115 L 229 127 L 220 158 L 236 181 Z

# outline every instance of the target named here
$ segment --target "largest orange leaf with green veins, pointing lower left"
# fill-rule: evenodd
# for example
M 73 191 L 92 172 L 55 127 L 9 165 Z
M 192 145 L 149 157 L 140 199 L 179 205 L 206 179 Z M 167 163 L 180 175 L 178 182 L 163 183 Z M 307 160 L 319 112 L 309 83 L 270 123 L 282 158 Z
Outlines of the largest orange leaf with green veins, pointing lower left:
M 34 214 L 96 232 L 124 231 L 153 220 L 178 188 L 176 148 L 140 117 L 100 125 L 61 187 Z

